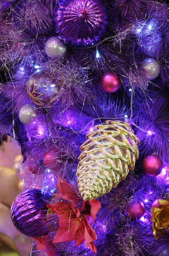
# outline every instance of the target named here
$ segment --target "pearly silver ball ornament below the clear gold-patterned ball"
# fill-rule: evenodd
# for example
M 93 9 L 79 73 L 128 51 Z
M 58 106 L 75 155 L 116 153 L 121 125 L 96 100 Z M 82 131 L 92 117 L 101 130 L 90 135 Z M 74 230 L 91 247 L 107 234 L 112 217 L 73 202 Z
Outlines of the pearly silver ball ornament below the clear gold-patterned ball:
M 37 116 L 37 109 L 34 104 L 25 104 L 20 108 L 18 116 L 20 122 L 30 125 Z

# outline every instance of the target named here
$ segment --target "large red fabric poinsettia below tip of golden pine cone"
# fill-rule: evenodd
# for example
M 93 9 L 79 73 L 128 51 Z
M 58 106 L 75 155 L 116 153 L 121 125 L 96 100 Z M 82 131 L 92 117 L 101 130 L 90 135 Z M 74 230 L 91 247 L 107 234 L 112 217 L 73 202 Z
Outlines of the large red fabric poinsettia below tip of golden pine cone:
M 65 199 L 66 202 L 57 202 L 48 204 L 54 213 L 59 217 L 59 229 L 56 233 L 53 243 L 64 241 L 75 241 L 76 245 L 85 245 L 93 252 L 97 253 L 97 249 L 93 241 L 97 239 L 96 233 L 90 225 L 92 219 L 95 223 L 96 214 L 101 208 L 101 204 L 97 200 L 84 201 L 82 210 L 78 208 L 82 201 L 78 195 L 76 187 L 67 183 L 65 180 L 59 180 L 57 197 Z

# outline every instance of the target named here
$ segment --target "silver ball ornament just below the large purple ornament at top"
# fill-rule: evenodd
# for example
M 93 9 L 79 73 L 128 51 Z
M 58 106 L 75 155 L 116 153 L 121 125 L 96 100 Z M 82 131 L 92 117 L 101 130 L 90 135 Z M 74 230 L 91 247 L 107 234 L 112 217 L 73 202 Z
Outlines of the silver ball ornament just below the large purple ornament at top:
M 51 37 L 45 42 L 45 53 L 50 58 L 58 58 L 66 52 L 66 45 L 57 37 Z

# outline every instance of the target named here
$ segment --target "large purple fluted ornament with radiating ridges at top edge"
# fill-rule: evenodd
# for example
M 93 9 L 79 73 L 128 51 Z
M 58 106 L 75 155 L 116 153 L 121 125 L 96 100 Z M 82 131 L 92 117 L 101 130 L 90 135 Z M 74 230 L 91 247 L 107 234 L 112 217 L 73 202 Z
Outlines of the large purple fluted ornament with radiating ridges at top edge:
M 100 41 L 107 14 L 100 0 L 63 0 L 54 10 L 53 21 L 66 44 L 87 46 Z

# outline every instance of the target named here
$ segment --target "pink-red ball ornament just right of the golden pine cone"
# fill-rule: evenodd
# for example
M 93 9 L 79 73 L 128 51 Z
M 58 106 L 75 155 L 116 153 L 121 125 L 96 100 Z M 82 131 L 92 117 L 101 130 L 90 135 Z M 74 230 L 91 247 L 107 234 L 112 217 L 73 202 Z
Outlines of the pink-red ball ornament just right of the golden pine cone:
M 144 158 L 142 163 L 143 172 L 151 177 L 159 175 L 163 169 L 163 161 L 156 154 Z

